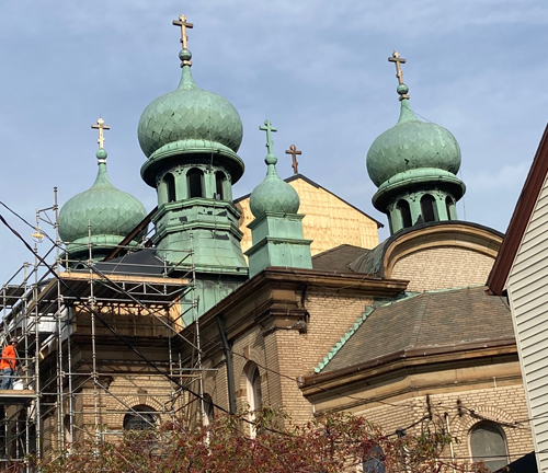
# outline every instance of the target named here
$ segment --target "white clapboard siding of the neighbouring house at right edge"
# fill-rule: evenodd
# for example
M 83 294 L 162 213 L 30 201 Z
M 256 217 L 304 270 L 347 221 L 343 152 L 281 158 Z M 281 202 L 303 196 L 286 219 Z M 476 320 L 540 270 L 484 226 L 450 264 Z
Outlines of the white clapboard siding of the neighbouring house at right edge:
M 527 224 L 506 289 L 537 464 L 539 472 L 548 472 L 548 178 Z

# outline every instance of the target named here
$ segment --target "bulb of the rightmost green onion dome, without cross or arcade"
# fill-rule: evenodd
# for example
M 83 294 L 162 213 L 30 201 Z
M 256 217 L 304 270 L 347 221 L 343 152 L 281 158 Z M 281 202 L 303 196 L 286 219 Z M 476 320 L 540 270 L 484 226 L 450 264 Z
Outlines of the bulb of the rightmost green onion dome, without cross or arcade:
M 398 93 L 406 91 L 407 85 L 400 84 Z M 419 120 L 409 107 L 409 100 L 403 99 L 398 123 L 375 139 L 366 163 L 369 177 L 378 187 L 409 170 L 427 168 L 456 174 L 460 168 L 460 148 L 447 129 Z

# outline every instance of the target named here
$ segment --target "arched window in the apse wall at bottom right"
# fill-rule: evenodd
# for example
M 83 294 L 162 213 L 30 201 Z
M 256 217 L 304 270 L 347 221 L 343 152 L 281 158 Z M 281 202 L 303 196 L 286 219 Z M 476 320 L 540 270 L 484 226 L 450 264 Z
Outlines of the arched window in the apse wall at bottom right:
M 483 461 L 493 472 L 509 464 L 506 438 L 502 428 L 489 420 L 476 424 L 470 430 L 470 453 L 475 462 Z

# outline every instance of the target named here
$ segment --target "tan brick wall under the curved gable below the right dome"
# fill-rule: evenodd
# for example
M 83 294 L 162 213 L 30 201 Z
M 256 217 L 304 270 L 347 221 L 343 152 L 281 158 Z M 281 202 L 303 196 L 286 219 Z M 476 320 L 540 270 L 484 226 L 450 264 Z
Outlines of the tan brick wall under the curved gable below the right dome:
M 461 247 L 435 247 L 398 259 L 391 277 L 409 279 L 409 291 L 483 285 L 494 259 Z

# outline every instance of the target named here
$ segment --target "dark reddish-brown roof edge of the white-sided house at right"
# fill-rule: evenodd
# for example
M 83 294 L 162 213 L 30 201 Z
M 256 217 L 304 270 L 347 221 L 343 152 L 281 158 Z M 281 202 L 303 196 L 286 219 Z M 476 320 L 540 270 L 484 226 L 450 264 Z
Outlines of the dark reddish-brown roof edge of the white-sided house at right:
M 510 269 L 514 263 L 523 235 L 527 229 L 533 210 L 543 189 L 548 174 L 548 125 L 545 128 L 537 152 L 530 165 L 529 173 L 523 185 L 522 193 L 510 220 L 506 236 L 487 280 L 489 289 L 494 295 L 502 295 Z

